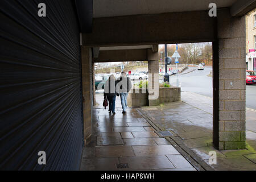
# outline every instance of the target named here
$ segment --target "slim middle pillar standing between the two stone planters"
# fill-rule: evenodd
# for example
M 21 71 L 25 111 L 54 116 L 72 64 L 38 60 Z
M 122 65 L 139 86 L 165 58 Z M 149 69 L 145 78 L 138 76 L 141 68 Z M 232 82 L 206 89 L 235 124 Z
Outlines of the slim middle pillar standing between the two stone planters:
M 159 60 L 158 52 L 147 49 L 148 59 L 148 105 L 159 105 Z

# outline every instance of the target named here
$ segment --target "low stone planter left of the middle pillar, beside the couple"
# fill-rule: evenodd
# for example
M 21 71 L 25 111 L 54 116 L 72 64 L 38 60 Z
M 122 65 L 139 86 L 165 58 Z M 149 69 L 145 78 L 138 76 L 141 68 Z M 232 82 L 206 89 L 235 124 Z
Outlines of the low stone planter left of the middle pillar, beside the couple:
M 148 106 L 147 89 L 131 89 L 128 94 L 127 105 L 129 107 Z

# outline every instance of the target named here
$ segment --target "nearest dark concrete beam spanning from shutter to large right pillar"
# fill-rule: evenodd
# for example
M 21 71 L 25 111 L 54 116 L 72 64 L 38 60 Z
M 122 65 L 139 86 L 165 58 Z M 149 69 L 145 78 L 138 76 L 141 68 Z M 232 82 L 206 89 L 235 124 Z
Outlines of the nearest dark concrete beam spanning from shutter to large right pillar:
M 209 42 L 213 21 L 208 11 L 94 18 L 84 46 L 127 46 Z

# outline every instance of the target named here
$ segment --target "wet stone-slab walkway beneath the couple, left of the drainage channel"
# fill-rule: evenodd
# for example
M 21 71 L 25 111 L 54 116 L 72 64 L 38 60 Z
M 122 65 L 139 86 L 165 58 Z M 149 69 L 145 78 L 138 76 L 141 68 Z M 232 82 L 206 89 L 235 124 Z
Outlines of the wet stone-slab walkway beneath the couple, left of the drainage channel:
M 102 104 L 103 96 L 98 94 Z M 116 114 L 100 105 L 93 110 L 93 135 L 82 152 L 81 170 L 191 170 L 196 169 L 165 138 L 160 138 L 137 109 Z M 117 168 L 126 164 L 128 168 Z M 124 166 L 124 165 L 123 165 Z

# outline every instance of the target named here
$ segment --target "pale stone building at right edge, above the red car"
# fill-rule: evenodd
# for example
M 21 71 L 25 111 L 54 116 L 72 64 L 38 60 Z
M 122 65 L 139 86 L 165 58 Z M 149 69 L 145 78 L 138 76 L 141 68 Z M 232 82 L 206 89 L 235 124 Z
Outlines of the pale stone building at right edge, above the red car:
M 256 9 L 246 15 L 246 69 L 256 71 Z

